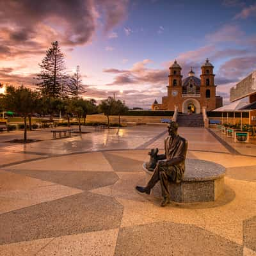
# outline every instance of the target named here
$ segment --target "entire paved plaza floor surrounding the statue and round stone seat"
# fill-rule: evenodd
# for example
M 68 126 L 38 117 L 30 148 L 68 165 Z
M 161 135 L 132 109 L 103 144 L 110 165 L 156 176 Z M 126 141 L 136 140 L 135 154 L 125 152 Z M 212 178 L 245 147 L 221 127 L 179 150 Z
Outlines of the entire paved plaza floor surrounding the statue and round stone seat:
M 180 127 L 188 158 L 222 164 L 215 202 L 159 207 L 145 184 L 148 149 L 166 125 L 140 125 L 21 145 L 0 134 L 0 255 L 256 255 L 256 147 L 214 130 Z

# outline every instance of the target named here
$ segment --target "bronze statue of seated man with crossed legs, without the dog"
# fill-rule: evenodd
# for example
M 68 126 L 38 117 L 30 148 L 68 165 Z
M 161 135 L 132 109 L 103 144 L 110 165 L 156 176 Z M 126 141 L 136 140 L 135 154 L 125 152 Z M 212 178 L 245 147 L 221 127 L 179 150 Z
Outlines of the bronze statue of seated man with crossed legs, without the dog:
M 161 206 L 170 203 L 168 182 L 179 183 L 184 177 L 188 141 L 178 135 L 178 127 L 176 122 L 168 125 L 169 136 L 164 139 L 165 154 L 157 156 L 157 165 L 147 186 L 136 186 L 139 192 L 149 195 L 151 189 L 160 181 L 163 196 Z

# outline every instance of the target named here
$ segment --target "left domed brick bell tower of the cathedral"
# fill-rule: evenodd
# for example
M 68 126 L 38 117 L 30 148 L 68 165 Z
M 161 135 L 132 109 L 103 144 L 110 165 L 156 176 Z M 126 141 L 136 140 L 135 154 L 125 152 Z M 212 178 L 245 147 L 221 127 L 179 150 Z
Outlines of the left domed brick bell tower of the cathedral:
M 168 88 L 168 96 L 172 95 L 172 92 L 182 91 L 182 76 L 181 76 L 181 67 L 177 63 L 177 60 L 174 61 L 173 65 L 169 68 L 169 85 Z

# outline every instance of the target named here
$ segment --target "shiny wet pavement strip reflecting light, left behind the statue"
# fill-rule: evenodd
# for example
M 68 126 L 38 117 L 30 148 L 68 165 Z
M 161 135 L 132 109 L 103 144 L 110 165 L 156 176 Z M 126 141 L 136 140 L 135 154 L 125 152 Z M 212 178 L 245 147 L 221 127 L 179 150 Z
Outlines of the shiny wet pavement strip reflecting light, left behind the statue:
M 40 154 L 70 154 L 73 152 L 97 151 L 109 149 L 132 149 L 152 140 L 166 130 L 166 125 L 140 125 L 125 128 L 111 128 L 95 131 L 93 127 L 83 127 L 86 134 L 73 134 L 71 138 L 52 140 L 51 131 L 29 132 L 28 138 L 39 139 L 26 145 L 4 143 L 4 141 L 22 138 L 22 133 L 0 135 L 0 150 L 10 152 L 40 152 Z M 5 137 L 5 138 L 3 138 Z

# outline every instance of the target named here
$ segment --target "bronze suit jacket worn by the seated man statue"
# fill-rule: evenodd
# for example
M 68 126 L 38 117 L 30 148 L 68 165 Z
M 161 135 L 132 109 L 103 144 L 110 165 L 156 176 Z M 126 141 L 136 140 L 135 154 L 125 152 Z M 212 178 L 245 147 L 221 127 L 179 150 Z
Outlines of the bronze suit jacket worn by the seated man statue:
M 167 136 L 164 139 L 164 149 L 166 161 L 168 161 L 168 169 L 170 168 L 172 170 L 172 180 L 173 182 L 179 183 L 184 179 L 188 141 L 179 135 L 174 138 Z

